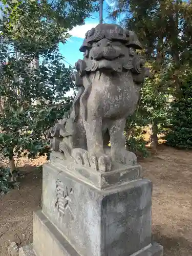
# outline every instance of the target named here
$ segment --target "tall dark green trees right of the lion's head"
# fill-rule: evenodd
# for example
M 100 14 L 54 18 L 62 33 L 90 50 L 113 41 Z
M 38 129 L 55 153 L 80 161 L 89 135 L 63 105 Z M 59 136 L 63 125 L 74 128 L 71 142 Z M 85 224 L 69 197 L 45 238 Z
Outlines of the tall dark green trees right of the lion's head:
M 181 0 L 112 2 L 110 16 L 114 20 L 123 16 L 121 25 L 138 34 L 151 69 L 152 79 L 145 81 L 137 116 L 148 119 L 152 146 L 156 148 L 158 133 L 169 123 L 170 100 L 183 97 L 183 84 L 191 69 L 192 3 Z

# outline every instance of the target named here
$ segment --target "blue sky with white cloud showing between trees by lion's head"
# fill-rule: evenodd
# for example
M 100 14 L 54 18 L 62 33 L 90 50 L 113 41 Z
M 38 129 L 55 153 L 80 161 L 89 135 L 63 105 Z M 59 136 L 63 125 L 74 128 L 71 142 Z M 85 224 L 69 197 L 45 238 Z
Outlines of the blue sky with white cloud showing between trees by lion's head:
M 108 19 L 107 8 L 113 0 L 105 0 L 103 3 L 103 22 L 113 23 L 112 20 Z M 92 13 L 90 18 L 85 20 L 85 25 L 77 26 L 70 31 L 71 38 L 68 39 L 66 44 L 60 44 L 60 53 L 65 57 L 66 61 L 74 66 L 75 62 L 83 57 L 83 54 L 79 52 L 79 48 L 82 45 L 83 38 L 88 30 L 96 27 L 99 24 L 99 13 Z M 66 63 L 66 67 L 69 67 Z

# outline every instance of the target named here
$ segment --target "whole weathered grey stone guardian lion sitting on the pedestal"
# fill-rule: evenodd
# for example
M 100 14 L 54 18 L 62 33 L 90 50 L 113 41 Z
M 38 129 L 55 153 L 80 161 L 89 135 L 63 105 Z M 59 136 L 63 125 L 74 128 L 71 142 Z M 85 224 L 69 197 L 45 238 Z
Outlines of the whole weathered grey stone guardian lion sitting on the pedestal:
M 114 164 L 136 164 L 135 154 L 125 148 L 124 127 L 149 75 L 140 49 L 137 35 L 115 24 L 100 24 L 86 33 L 83 59 L 75 64 L 79 91 L 70 117 L 49 131 L 52 150 L 63 159 L 101 172 L 113 170 Z

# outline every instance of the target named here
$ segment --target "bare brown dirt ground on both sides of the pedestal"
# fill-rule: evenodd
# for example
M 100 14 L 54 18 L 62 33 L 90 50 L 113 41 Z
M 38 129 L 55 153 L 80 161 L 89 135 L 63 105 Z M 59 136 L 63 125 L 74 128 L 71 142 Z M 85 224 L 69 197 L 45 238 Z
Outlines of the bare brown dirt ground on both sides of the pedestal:
M 0 256 L 9 240 L 19 246 L 32 242 L 32 214 L 41 205 L 44 158 L 19 162 L 25 173 L 20 190 L 0 198 Z M 160 145 L 156 155 L 139 160 L 143 176 L 153 182 L 153 239 L 165 256 L 192 255 L 192 152 Z M 24 167 L 25 166 L 25 167 Z

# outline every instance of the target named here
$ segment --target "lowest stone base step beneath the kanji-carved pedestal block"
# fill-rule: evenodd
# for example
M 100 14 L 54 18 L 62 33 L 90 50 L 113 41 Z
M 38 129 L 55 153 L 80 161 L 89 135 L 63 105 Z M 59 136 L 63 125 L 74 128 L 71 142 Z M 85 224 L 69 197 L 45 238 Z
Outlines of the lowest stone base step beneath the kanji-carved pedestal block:
M 80 256 L 41 211 L 34 213 L 33 229 L 33 249 L 37 256 Z M 19 254 L 19 256 L 24 255 L 34 256 L 34 254 Z M 162 255 L 163 247 L 157 243 L 146 246 L 132 255 L 127 254 L 127 256 Z

